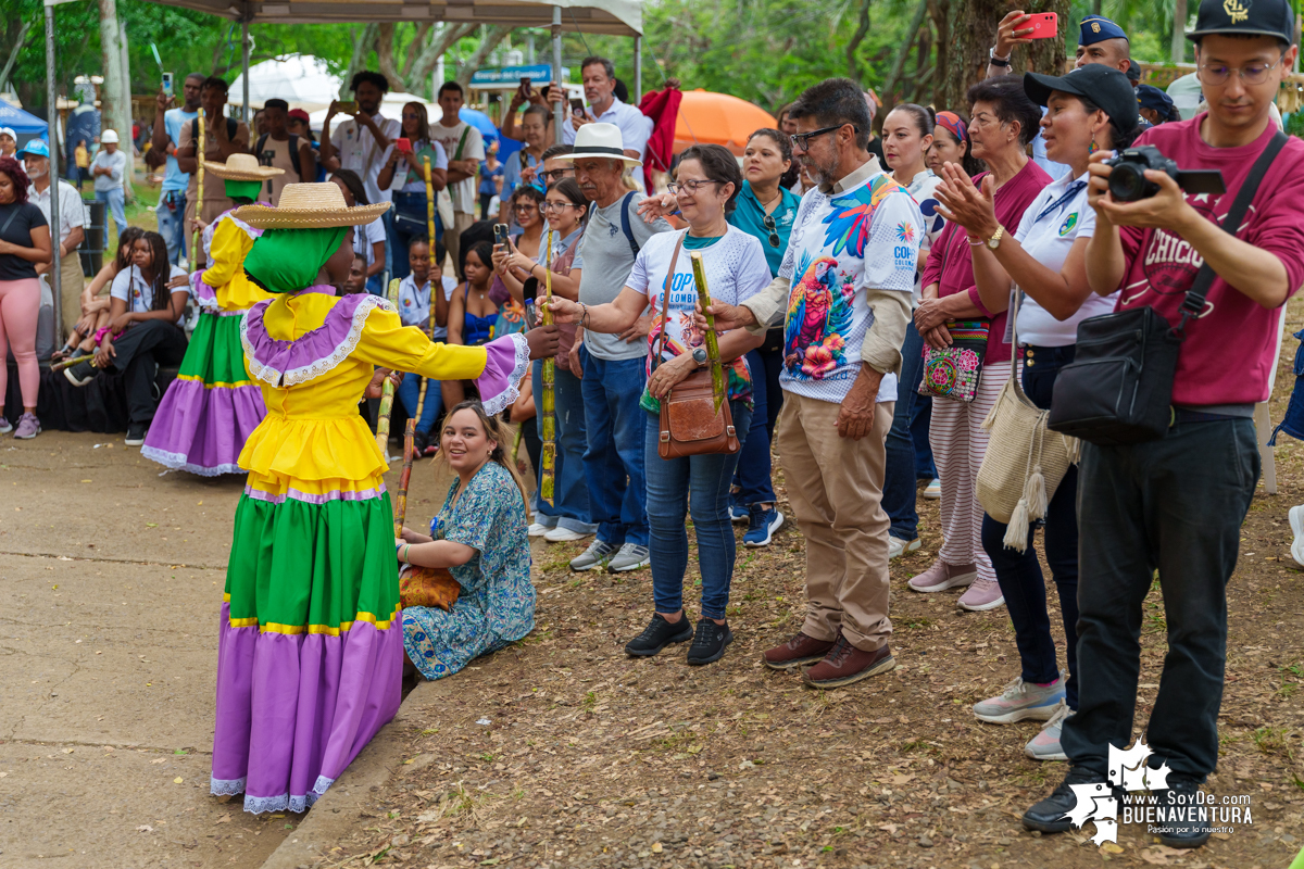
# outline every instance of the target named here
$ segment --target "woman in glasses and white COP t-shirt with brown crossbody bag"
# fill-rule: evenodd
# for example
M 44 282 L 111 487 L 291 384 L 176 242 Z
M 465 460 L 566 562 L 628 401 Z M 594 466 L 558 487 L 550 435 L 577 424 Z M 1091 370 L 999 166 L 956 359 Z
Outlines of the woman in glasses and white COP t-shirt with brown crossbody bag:
M 734 567 L 729 483 L 738 453 L 661 459 L 657 448 L 660 401 L 707 360 L 704 337 L 692 319 L 698 291 L 690 254 L 702 254 L 707 287 L 715 301 L 738 305 L 769 284 L 769 264 L 760 242 L 725 219 L 741 188 L 738 160 L 728 150 L 719 145 L 687 149 L 670 192 L 678 199 L 689 229 L 652 236 L 634 261 L 634 270 L 614 302 L 588 306 L 559 296 L 552 302 L 557 322 L 580 323 L 593 332 L 622 332 L 634 326 L 644 309 L 651 307 L 653 313 L 648 335 L 648 382 L 640 404 L 648 412 L 644 461 L 656 611 L 647 629 L 625 646 L 631 655 L 655 655 L 669 644 L 691 637 L 689 663 L 704 664 L 719 661 L 733 640 L 725 610 Z M 664 318 L 662 307 L 666 310 Z M 729 409 L 739 440 L 746 438 L 752 410 L 751 378 L 743 356 L 763 339 L 764 335 L 754 336 L 743 330 L 719 337 Z M 683 577 L 689 568 L 683 520 L 690 508 L 702 568 L 702 620 L 696 633 L 683 611 Z

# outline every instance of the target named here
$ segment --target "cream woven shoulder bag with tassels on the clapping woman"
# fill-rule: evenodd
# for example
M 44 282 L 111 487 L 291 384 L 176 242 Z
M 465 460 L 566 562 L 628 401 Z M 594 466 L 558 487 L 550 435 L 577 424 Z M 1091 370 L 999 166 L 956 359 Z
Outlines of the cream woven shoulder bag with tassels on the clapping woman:
M 1028 548 L 1028 524 L 1046 516 L 1046 507 L 1069 465 L 1077 461 L 1078 440 L 1050 431 L 1042 410 L 1028 395 L 1018 378 L 1018 306 L 1020 291 L 1009 313 L 1011 377 L 983 420 L 991 440 L 978 468 L 978 503 L 998 522 L 1005 522 L 1005 546 L 1020 552 Z

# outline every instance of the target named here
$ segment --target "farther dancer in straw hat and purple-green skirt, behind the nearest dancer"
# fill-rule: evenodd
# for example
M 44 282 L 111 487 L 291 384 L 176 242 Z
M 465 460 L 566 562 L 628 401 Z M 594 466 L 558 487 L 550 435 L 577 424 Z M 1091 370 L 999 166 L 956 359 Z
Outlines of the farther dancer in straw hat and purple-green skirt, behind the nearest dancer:
M 203 171 L 222 178 L 227 195 L 240 206 L 254 202 L 267 178 L 286 172 L 258 165 L 252 154 L 205 163 Z M 235 208 L 203 228 L 209 268 L 190 275 L 200 322 L 141 448 L 142 456 L 166 468 L 202 477 L 239 474 L 240 449 L 266 413 L 240 347 L 244 313 L 270 298 L 244 274 L 244 259 L 261 235 L 236 218 Z

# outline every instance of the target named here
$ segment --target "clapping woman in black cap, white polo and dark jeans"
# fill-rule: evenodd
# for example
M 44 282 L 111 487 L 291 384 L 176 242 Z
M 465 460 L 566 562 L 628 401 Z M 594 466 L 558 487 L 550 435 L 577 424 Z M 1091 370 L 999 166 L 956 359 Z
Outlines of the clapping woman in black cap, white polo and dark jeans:
M 1015 339 L 1024 348 L 1020 382 L 1037 406 L 1050 408 L 1055 378 L 1073 361 L 1077 324 L 1115 306 L 1118 293 L 1095 296 L 1086 281 L 1086 245 L 1095 229 L 1086 167 L 1093 151 L 1132 143 L 1138 132 L 1137 103 L 1127 77 L 1099 64 L 1059 78 L 1028 73 L 1024 90 L 1047 108 L 1041 122 L 1047 156 L 1072 171 L 1042 189 L 1024 211 L 1013 237 L 1007 236 L 995 250 L 975 244 L 994 237 L 1000 228 L 988 193 L 974 188 L 962 169 L 948 163 L 936 194 L 949 212 L 947 219 L 964 227 L 974 245 L 974 278 L 983 304 L 1004 306 L 1012 287 L 1022 292 L 1021 305 L 1011 302 L 1011 310 L 1017 310 L 1017 318 L 1011 318 Z M 1060 731 L 1077 709 L 1076 499 L 1077 468 L 1071 466 L 1046 511 L 1046 563 L 1059 591 L 1067 681 L 1055 659 L 1046 584 L 1031 546 L 1035 526 L 1016 530 L 991 516 L 985 516 L 982 524 L 983 550 L 991 558 L 1015 624 L 1022 672 L 1004 693 L 977 704 L 974 714 L 998 724 L 1024 718 L 1046 720 L 1042 732 L 1024 748 L 1033 760 L 1065 758 Z M 1021 551 L 1007 542 L 1020 533 Z

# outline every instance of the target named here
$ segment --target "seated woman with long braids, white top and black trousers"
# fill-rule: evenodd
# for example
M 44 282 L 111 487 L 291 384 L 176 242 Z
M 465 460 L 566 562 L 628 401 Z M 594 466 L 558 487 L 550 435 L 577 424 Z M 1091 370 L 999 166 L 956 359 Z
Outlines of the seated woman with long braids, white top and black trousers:
M 113 278 L 110 321 L 95 336 L 94 362 L 64 369 L 64 377 L 78 387 L 90 383 L 96 370 L 126 375 L 128 447 L 145 443 L 158 409 L 155 367 L 179 366 L 185 357 L 181 315 L 189 294 L 185 270 L 168 264 L 163 236 L 146 232 L 136 240 L 132 267 Z

